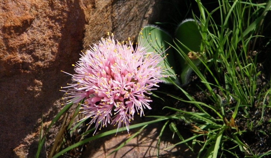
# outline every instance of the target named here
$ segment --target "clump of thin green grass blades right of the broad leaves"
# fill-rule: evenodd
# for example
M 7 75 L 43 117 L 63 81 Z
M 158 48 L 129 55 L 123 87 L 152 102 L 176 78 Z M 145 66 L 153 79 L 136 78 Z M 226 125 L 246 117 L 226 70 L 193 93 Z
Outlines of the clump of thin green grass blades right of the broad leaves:
M 271 1 L 256 4 L 252 1 L 218 0 L 219 6 L 210 12 L 201 1 L 197 3 L 200 16 L 194 15 L 194 19 L 200 21 L 198 29 L 202 35 L 200 46 L 202 53 L 198 59 L 201 60 L 202 66 L 198 67 L 187 57 L 187 53 L 179 45 L 189 48 L 181 41 L 175 40 L 171 46 L 199 78 L 203 86 L 198 88 L 208 98 L 208 103 L 198 102 L 182 87 L 172 82 L 185 94 L 186 99 L 171 96 L 197 107 L 193 112 L 165 107 L 177 112 L 171 118 L 191 124 L 191 131 L 194 133 L 192 137 L 184 140 L 179 136 L 181 132 L 174 128 L 172 131 L 176 132 L 181 140 L 175 145 L 192 140 L 192 145 L 188 146 L 190 149 L 193 149 L 195 144 L 201 147 L 197 157 L 269 155 L 271 150 L 255 153 L 255 150 L 240 138 L 247 130 L 257 130 L 263 120 L 270 119 L 264 118 L 266 109 L 270 109 L 270 83 L 265 86 L 258 83 L 261 72 L 257 69 L 257 53 L 252 55 L 252 52 L 255 49 L 255 41 L 260 36 L 262 21 L 270 10 Z M 220 17 L 215 17 L 218 13 Z M 252 112 L 258 110 L 262 112 L 261 117 L 251 119 Z M 242 119 L 248 121 L 246 127 L 236 123 Z M 172 126 L 171 124 L 171 128 Z M 270 135 L 270 131 L 264 134 Z M 200 137 L 204 140 L 198 139 Z

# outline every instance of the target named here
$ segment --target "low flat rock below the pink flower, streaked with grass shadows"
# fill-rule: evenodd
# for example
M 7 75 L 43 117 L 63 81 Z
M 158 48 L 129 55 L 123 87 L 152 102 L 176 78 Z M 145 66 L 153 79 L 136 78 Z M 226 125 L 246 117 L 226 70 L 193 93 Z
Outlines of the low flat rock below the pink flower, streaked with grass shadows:
M 140 118 L 137 118 L 141 120 Z M 142 120 L 141 120 L 142 121 Z M 136 121 L 138 123 L 138 121 Z M 127 131 L 118 133 L 117 136 L 111 135 L 103 138 L 104 141 L 92 141 L 88 144 L 82 158 L 130 158 L 130 157 L 156 157 L 157 155 L 157 142 L 159 134 L 162 128 L 163 122 L 150 124 L 142 130 L 137 136 L 132 138 L 129 142 L 126 142 L 130 137 L 133 136 L 140 128 L 133 129 L 130 131 L 130 136 Z M 173 137 L 173 132 L 166 128 L 163 132 L 159 146 L 159 157 L 170 157 L 170 158 L 183 158 L 191 157 L 193 153 L 188 150 L 188 147 L 184 144 L 179 144 L 175 147 L 166 149 L 173 144 L 180 141 L 177 134 Z M 122 143 L 125 146 L 120 148 L 118 151 L 109 155 Z M 166 149 L 166 150 L 164 150 Z M 194 155 L 195 156 L 195 155 Z M 192 156 L 193 157 L 193 156 Z

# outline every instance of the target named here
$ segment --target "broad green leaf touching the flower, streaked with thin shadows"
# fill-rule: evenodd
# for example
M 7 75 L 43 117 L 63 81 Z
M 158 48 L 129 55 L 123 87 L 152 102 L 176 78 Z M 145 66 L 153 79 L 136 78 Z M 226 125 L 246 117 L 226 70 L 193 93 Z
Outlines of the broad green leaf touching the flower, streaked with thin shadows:
M 142 33 L 142 34 L 141 34 Z M 174 51 L 170 49 L 170 45 L 168 43 L 172 42 L 172 37 L 165 31 L 161 30 L 156 26 L 145 26 L 141 33 L 138 36 L 138 41 L 143 42 L 143 47 L 148 48 L 148 52 L 159 52 L 166 51 L 162 54 L 164 57 L 166 54 L 167 57 L 164 58 L 164 61 L 160 61 L 162 67 L 164 69 L 168 69 L 165 73 L 166 75 L 171 75 L 169 78 L 173 81 L 177 80 L 177 76 L 175 75 L 175 58 L 174 58 Z M 172 67 L 172 68 L 171 68 Z M 167 78 L 161 78 L 165 83 L 170 84 L 171 82 Z

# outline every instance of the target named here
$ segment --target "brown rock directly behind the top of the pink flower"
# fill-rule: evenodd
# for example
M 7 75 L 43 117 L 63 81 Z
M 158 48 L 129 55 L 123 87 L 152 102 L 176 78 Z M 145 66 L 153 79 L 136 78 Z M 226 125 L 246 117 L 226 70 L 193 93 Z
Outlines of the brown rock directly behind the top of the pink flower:
M 161 1 L 95 1 L 86 26 L 84 48 L 89 49 L 94 41 L 100 40 L 106 32 L 113 32 L 119 41 L 136 41 L 135 37 L 144 26 L 158 18 Z

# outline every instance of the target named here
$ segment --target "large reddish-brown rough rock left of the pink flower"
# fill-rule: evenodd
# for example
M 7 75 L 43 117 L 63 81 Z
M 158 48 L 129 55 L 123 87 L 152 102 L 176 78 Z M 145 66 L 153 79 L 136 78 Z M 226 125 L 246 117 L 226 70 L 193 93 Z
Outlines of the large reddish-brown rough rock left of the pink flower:
M 85 5 L 0 2 L 0 157 L 15 157 L 15 148 L 27 156 L 42 113 L 50 113 L 47 121 L 59 110 L 59 88 L 70 79 L 60 70 L 71 72 L 82 50 Z

